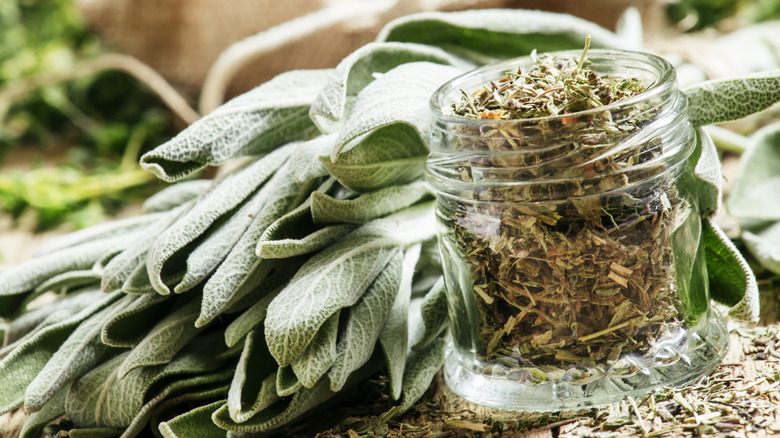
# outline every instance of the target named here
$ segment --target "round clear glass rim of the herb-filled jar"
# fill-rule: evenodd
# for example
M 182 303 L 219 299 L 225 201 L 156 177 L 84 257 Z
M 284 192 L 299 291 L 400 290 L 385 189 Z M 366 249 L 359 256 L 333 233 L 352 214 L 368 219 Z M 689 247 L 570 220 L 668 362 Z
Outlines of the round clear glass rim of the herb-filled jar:
M 556 52 L 545 52 L 542 55 L 549 55 L 559 58 L 572 58 L 576 59 L 582 54 L 582 51 L 578 50 L 564 50 Z M 454 103 L 452 99 L 455 93 L 460 95 L 459 91 L 463 89 L 463 86 L 474 82 L 472 85 L 482 85 L 482 81 L 477 82 L 476 79 L 481 75 L 505 74 L 508 71 L 516 69 L 519 65 L 534 63 L 534 58 L 531 55 L 521 56 L 518 58 L 512 58 L 505 61 L 501 61 L 494 64 L 485 65 L 471 70 L 463 75 L 460 75 L 454 79 L 443 84 L 439 87 L 431 96 L 430 108 L 432 110 L 434 118 L 443 123 L 456 123 L 460 125 L 474 125 L 474 126 L 495 126 L 499 127 L 505 124 L 518 123 L 545 123 L 550 121 L 561 120 L 569 117 L 582 117 L 591 114 L 603 112 L 605 110 L 617 110 L 623 107 L 629 107 L 636 105 L 645 100 L 662 96 L 665 93 L 672 92 L 672 88 L 676 88 L 676 73 L 672 64 L 660 56 L 653 55 L 647 52 L 637 52 L 630 50 L 616 50 L 616 49 L 591 49 L 588 51 L 587 59 L 592 63 L 597 60 L 608 60 L 609 62 L 616 62 L 616 66 L 626 65 L 630 66 L 629 61 L 634 65 L 641 64 L 646 67 L 654 68 L 657 71 L 658 76 L 656 80 L 650 84 L 644 91 L 637 93 L 627 99 L 623 99 L 617 102 L 610 103 L 598 108 L 591 108 L 583 111 L 577 111 L 572 113 L 559 114 L 555 116 L 534 117 L 527 119 L 480 119 L 473 117 L 466 117 L 455 114 L 453 112 L 445 112 L 445 108 Z M 623 61 L 623 63 L 620 63 Z

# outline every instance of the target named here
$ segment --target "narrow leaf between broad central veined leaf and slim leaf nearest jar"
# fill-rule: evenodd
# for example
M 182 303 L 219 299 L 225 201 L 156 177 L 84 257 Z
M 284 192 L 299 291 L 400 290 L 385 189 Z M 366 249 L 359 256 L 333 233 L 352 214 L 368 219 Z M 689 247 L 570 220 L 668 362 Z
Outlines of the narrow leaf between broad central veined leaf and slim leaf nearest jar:
M 349 309 L 338 343 L 337 357 L 328 372 L 331 391 L 338 392 L 352 372 L 371 358 L 401 286 L 403 256 L 397 253 L 376 277 L 366 293 Z

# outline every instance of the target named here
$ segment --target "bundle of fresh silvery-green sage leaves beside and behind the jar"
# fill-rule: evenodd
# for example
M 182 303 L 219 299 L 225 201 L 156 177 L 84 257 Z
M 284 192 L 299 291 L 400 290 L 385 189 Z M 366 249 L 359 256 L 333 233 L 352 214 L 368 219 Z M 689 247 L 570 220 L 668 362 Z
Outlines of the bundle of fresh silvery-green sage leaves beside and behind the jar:
M 407 17 L 335 70 L 280 75 L 147 153 L 145 169 L 180 182 L 145 215 L 52 240 L 0 272 L 0 412 L 30 413 L 23 437 L 63 414 L 74 438 L 147 425 L 165 437 L 252 436 L 383 368 L 400 400 L 383 418 L 404 412 L 442 364 L 447 324 L 420 181 L 430 95 L 478 63 L 575 49 L 586 34 L 620 47 L 558 14 Z M 695 87 L 692 118 L 761 110 L 780 100 L 778 75 Z M 718 159 L 699 133 L 690 183 L 711 212 Z M 242 156 L 255 158 L 217 181 L 184 179 Z M 742 300 L 753 318 L 751 274 L 727 255 L 735 275 L 711 273 L 730 286 L 715 298 Z

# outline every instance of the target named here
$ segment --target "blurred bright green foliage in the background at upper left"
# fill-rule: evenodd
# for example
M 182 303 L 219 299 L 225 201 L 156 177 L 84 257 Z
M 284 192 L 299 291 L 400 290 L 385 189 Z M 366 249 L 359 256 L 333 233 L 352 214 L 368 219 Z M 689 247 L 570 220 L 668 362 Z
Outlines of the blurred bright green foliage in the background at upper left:
M 0 0 L 0 93 L 105 51 L 74 0 Z M 157 96 L 124 72 L 42 87 L 14 101 L 0 97 L 0 163 L 19 148 L 62 162 L 2 171 L 0 207 L 14 217 L 32 208 L 39 228 L 90 225 L 148 195 L 154 178 L 139 170 L 137 158 L 175 132 Z

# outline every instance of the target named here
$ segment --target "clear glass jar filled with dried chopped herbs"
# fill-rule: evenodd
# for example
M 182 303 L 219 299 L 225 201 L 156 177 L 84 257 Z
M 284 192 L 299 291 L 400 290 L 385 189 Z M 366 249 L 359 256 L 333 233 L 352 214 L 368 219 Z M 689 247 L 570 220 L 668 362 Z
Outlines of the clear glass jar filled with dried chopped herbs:
M 464 92 L 530 70 L 526 57 L 467 73 L 431 99 L 426 179 L 452 321 L 444 373 L 467 400 L 603 405 L 688 382 L 726 352 L 691 189 L 696 137 L 674 69 L 636 52 L 588 59 L 645 91 L 554 117 L 453 112 Z

